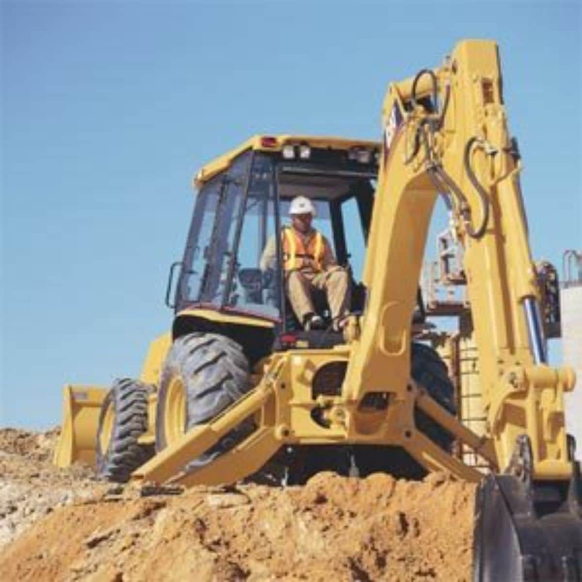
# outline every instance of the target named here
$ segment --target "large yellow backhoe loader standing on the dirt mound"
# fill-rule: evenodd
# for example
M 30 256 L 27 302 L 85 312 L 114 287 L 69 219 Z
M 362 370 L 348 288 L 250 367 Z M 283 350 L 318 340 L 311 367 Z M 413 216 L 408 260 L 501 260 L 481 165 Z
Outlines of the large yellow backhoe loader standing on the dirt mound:
M 55 462 L 186 487 L 448 471 L 480 482 L 475 580 L 581 580 L 579 465 L 563 406 L 574 373 L 547 363 L 555 314 L 540 281 L 551 277 L 538 276 L 528 246 L 496 44 L 460 42 L 442 66 L 392 83 L 382 123 L 381 143 L 257 136 L 198 173 L 168 281 L 172 330 L 139 380 L 65 388 Z M 352 274 L 341 331 L 325 297 L 314 298 L 324 329 L 306 331 L 290 307 L 282 228 L 299 195 Z M 433 309 L 462 321 L 440 335 L 419 288 L 438 196 L 462 249 L 448 280 L 466 289 L 454 308 Z M 271 239 L 278 263 L 267 269 Z M 469 395 L 467 374 L 453 373 L 460 342 L 477 353 Z M 479 424 L 464 413 L 475 395 Z

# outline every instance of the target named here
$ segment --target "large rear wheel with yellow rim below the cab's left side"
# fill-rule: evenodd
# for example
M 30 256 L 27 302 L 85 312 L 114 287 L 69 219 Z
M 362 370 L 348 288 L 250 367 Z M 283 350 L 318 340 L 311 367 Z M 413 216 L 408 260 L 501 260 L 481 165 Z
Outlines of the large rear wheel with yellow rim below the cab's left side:
M 242 347 L 217 333 L 195 332 L 173 343 L 162 370 L 158 391 L 156 450 L 177 441 L 191 428 L 208 423 L 250 388 L 249 362 Z M 188 467 L 210 463 L 250 433 L 244 421 Z

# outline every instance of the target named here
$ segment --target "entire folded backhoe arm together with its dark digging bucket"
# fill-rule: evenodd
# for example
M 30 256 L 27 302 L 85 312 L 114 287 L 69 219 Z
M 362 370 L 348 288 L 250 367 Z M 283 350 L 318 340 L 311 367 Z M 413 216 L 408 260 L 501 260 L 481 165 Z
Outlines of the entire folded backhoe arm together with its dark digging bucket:
M 364 269 L 368 303 L 347 367 L 346 403 L 371 392 L 401 402 L 411 391 L 410 314 L 440 193 L 464 248 L 481 398 L 495 464 L 505 473 L 489 474 L 475 502 L 474 580 L 581 580 L 580 474 L 563 403 L 574 372 L 547 365 L 519 151 L 494 42 L 461 42 L 442 68 L 392 84 L 383 120 Z M 413 456 L 426 452 L 410 416 L 402 433 Z

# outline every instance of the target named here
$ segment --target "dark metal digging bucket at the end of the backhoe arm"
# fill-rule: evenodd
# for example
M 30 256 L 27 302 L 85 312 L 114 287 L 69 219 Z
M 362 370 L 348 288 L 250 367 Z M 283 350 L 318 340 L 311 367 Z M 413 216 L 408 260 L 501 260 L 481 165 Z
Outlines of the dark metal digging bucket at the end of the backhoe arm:
M 582 582 L 580 478 L 484 478 L 475 501 L 473 581 Z

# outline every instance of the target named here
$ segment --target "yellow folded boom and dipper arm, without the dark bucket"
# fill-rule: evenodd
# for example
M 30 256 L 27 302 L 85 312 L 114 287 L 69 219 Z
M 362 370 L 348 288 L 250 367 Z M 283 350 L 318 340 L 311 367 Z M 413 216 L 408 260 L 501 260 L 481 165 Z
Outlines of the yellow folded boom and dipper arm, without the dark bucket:
M 364 283 L 369 290 L 344 394 L 404 398 L 411 313 L 437 193 L 464 246 L 480 359 L 480 384 L 499 469 L 527 435 L 533 477 L 572 474 L 563 392 L 570 368 L 546 365 L 539 292 L 494 42 L 460 42 L 442 68 L 393 83 L 383 110 L 384 145 Z M 385 370 L 391 370 L 387 378 Z

